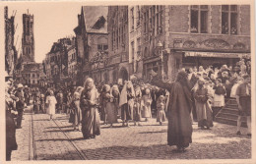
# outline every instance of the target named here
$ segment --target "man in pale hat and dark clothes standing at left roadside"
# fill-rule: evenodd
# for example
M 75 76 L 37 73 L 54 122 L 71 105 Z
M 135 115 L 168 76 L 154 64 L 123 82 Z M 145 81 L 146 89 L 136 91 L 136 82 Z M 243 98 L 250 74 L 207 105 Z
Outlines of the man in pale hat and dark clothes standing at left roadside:
M 23 111 L 24 111 L 24 105 L 25 105 L 25 98 L 24 98 L 24 92 L 23 92 L 23 84 L 19 83 L 17 85 L 17 91 L 15 93 L 15 96 L 19 98 L 19 100 L 16 102 L 16 109 L 18 111 L 18 117 L 17 117 L 17 129 L 22 128 L 22 120 L 23 120 Z

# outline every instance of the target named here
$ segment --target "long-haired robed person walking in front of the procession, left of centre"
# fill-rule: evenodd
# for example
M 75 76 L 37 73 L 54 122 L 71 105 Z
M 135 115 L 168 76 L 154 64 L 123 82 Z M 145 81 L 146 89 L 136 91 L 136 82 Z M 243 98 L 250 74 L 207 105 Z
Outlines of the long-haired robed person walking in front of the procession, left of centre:
M 88 78 L 84 83 L 81 93 L 80 108 L 82 109 L 82 133 L 85 139 L 95 138 L 100 135 L 99 114 L 98 114 L 99 94 L 93 79 Z

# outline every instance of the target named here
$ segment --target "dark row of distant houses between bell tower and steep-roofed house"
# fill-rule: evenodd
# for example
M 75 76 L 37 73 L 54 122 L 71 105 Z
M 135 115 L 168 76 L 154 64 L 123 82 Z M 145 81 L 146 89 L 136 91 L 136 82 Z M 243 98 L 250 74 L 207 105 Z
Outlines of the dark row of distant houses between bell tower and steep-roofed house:
M 43 66 L 46 82 L 49 86 L 76 82 L 77 53 L 75 40 L 75 37 L 59 39 L 53 43 L 50 52 L 45 55 Z

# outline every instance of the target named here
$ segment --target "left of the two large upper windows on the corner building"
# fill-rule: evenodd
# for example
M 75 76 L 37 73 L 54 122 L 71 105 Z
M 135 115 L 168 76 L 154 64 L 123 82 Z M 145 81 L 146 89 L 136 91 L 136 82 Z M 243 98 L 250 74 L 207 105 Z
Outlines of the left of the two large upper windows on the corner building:
M 192 5 L 190 31 L 193 33 L 207 33 L 208 32 L 207 29 L 208 29 L 208 6 Z

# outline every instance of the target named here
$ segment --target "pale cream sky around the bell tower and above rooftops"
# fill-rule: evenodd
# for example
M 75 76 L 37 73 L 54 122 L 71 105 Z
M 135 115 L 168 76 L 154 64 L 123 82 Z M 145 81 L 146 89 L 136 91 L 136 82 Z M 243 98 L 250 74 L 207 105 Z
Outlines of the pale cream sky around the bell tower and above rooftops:
M 51 49 L 53 42 L 59 38 L 73 35 L 74 28 L 78 26 L 78 14 L 81 14 L 81 3 L 15 3 L 8 5 L 9 18 L 13 11 L 17 10 L 15 25 L 18 24 L 15 33 L 17 50 L 22 51 L 23 14 L 33 15 L 34 60 L 41 63 L 45 54 Z M 17 43 L 16 43 L 17 42 Z M 19 54 L 20 55 L 20 54 Z

